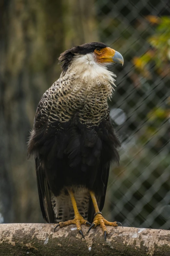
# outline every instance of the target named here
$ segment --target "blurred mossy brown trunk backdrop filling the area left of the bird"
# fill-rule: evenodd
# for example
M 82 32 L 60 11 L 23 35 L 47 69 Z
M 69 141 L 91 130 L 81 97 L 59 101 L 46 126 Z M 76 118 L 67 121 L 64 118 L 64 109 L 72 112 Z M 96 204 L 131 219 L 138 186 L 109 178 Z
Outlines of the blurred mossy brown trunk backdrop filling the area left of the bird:
M 59 78 L 60 53 L 96 41 L 93 1 L 0 0 L 0 213 L 41 222 L 26 143 L 42 94 Z M 0 215 L 0 221 L 2 220 Z

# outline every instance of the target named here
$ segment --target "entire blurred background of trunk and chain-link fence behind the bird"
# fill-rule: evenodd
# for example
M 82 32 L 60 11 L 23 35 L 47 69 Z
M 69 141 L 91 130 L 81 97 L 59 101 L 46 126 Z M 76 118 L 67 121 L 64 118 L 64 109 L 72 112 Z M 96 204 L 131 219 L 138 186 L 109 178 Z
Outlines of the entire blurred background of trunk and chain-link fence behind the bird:
M 119 51 L 109 102 L 120 166 L 103 213 L 123 226 L 170 229 L 169 0 L 0 0 L 0 223 L 44 222 L 27 141 L 58 57 L 100 41 Z

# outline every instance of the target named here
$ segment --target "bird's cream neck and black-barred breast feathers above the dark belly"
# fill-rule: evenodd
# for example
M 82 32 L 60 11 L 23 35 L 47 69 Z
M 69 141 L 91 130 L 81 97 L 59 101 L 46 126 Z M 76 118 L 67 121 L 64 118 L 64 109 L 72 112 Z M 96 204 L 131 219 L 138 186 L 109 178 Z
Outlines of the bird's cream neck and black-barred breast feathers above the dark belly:
M 93 53 L 74 57 L 67 71 L 43 95 L 37 113 L 43 110 L 50 122 L 66 122 L 75 111 L 81 123 L 97 125 L 106 118 L 116 75 L 94 58 Z

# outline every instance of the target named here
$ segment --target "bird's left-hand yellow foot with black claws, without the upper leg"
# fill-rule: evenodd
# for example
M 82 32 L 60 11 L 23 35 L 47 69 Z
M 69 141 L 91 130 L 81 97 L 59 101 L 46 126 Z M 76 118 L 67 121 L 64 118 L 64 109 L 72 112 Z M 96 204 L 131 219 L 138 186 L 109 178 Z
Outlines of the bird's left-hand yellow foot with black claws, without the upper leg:
M 92 224 L 85 220 L 79 213 L 75 215 L 75 218 L 73 220 L 67 220 L 67 221 L 62 221 L 59 222 L 59 224 L 54 228 L 54 232 L 57 227 L 63 228 L 64 226 L 68 226 L 71 224 L 76 224 L 78 232 L 82 235 L 84 238 L 83 232 L 81 230 L 81 225 L 86 225 L 86 226 L 91 226 Z M 85 238 L 84 238 L 85 239 Z

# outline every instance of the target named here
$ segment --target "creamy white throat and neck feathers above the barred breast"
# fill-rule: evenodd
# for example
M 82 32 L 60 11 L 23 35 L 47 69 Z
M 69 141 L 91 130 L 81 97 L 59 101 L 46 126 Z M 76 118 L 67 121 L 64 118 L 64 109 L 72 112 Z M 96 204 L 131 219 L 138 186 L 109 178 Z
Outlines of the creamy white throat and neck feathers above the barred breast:
M 110 63 L 98 63 L 94 53 L 75 56 L 67 71 L 62 73 L 60 79 L 73 81 L 72 89 L 84 87 L 87 91 L 95 90 L 94 87 L 104 86 L 106 97 L 110 99 L 115 85 L 116 75 L 107 70 Z

